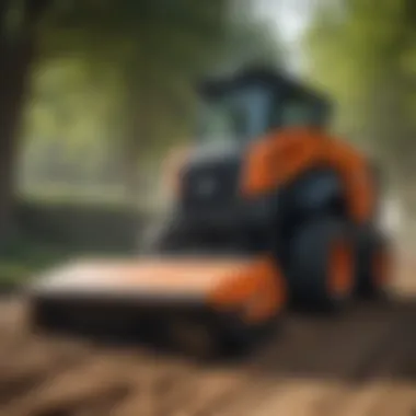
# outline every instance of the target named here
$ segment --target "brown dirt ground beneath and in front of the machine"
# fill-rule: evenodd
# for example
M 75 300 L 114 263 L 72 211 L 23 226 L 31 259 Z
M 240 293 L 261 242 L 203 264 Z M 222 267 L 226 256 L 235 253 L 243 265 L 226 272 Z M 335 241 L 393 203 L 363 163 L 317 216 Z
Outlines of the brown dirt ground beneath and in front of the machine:
M 333 319 L 290 314 L 239 362 L 37 338 L 22 301 L 4 299 L 0 415 L 416 415 L 416 262 L 402 257 L 388 307 L 358 304 Z

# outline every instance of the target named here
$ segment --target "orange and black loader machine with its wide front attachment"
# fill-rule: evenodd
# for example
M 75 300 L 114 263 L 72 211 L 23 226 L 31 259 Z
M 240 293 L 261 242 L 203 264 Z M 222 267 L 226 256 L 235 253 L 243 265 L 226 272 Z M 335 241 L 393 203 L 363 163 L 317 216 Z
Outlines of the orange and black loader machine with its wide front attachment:
M 174 201 L 152 251 L 36 280 L 38 327 L 101 319 L 236 350 L 291 300 L 342 311 L 357 296 L 384 293 L 378 175 L 328 134 L 330 102 L 267 68 L 205 79 L 198 93 L 195 140 L 167 164 Z

